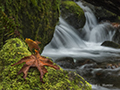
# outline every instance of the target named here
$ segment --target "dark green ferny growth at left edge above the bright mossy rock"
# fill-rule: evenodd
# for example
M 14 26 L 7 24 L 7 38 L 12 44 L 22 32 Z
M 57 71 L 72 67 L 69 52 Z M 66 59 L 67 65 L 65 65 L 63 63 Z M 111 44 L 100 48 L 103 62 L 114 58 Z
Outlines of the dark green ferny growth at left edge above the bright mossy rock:
M 4 8 L 0 7 L 0 49 L 9 38 L 16 37 L 14 31 L 18 30 L 19 24 L 16 24 L 13 17 L 8 17 L 4 13 Z M 22 36 L 21 36 L 22 37 Z

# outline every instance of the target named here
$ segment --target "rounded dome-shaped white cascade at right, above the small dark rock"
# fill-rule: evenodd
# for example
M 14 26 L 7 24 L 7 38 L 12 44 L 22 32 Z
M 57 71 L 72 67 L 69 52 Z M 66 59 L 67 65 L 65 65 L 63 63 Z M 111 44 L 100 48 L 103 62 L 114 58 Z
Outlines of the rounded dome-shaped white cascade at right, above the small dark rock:
M 89 41 L 90 42 L 103 42 L 103 41 L 112 41 L 112 37 L 115 33 L 114 28 L 109 23 L 103 23 L 95 26 L 91 32 Z

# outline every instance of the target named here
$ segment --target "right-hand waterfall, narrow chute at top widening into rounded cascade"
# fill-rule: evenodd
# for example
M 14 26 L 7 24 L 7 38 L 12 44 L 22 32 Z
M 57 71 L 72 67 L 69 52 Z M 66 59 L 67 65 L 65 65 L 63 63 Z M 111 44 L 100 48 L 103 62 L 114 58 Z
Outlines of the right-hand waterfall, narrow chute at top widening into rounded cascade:
M 82 29 L 83 34 L 85 33 L 83 39 L 90 42 L 111 41 L 114 34 L 114 28 L 111 24 L 107 22 L 98 24 L 94 13 L 89 7 L 83 6 L 81 2 L 77 2 L 77 4 L 83 9 L 86 17 L 86 23 Z

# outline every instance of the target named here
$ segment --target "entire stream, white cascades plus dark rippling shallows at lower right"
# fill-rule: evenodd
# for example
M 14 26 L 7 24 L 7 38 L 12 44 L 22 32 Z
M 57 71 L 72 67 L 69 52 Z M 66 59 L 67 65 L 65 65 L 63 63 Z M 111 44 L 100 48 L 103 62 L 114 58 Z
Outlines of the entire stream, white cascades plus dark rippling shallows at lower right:
M 120 90 L 120 68 L 114 65 L 120 63 L 120 49 L 101 46 L 104 41 L 112 41 L 114 28 L 108 22 L 98 23 L 89 7 L 76 3 L 85 11 L 85 26 L 76 30 L 60 17 L 42 55 L 54 62 L 59 58 L 73 58 L 77 63 L 75 68 L 63 69 L 76 71 L 92 84 L 93 90 Z M 89 63 L 78 64 L 86 60 L 90 60 Z

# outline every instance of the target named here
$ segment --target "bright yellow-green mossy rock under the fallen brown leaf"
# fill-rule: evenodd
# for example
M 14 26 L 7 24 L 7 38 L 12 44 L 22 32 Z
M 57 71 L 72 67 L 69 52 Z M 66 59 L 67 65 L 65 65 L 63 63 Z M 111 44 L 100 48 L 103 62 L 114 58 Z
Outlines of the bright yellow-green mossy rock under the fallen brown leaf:
M 22 78 L 23 74 L 17 76 L 23 64 L 11 65 L 24 56 L 31 55 L 25 43 L 18 38 L 8 40 L 0 55 L 0 90 L 92 90 L 91 85 L 81 76 L 63 69 L 46 67 L 48 73 L 43 77 L 45 84 L 40 82 L 40 73 L 36 68 L 30 68 L 26 80 Z

